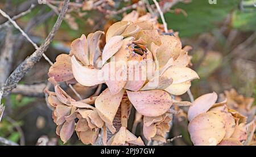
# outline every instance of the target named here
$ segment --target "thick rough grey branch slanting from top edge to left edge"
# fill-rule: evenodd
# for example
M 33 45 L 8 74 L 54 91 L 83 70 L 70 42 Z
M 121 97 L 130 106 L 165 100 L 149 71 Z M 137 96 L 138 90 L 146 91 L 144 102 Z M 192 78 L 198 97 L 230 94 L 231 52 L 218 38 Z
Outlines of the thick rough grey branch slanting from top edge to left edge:
M 60 24 L 63 21 L 64 14 L 68 9 L 68 3 L 69 0 L 65 0 L 63 7 L 60 11 L 60 14 L 56 20 L 56 23 L 54 24 L 51 32 L 47 36 L 44 43 L 37 49 L 33 54 L 31 54 L 30 57 L 27 57 L 26 60 L 24 60 L 16 69 L 13 71 L 13 73 L 10 75 L 10 77 L 6 80 L 5 86 L 2 87 L 3 96 L 7 96 L 10 94 L 11 90 L 16 87 L 20 79 L 24 77 L 24 75 L 30 70 L 36 62 L 42 58 L 43 53 L 47 50 L 49 44 L 51 43 L 53 37 L 55 36 L 55 33 L 60 28 Z M 9 17 L 10 18 L 10 17 Z

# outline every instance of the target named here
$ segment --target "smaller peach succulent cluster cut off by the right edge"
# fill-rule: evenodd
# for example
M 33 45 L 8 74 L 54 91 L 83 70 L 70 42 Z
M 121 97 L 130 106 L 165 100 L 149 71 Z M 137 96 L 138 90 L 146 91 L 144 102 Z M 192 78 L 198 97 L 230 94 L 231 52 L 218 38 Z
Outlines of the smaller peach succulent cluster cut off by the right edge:
M 188 131 L 194 145 L 255 145 L 254 99 L 238 95 L 235 90 L 198 97 L 188 110 Z

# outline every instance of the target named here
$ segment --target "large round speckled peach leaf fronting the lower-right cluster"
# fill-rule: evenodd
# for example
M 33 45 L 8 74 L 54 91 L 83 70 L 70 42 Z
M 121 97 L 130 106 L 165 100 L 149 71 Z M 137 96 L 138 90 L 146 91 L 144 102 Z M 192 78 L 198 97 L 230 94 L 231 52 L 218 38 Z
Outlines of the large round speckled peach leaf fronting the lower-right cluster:
M 194 145 L 216 146 L 224 138 L 224 120 L 215 113 L 201 113 L 188 124 L 188 131 Z

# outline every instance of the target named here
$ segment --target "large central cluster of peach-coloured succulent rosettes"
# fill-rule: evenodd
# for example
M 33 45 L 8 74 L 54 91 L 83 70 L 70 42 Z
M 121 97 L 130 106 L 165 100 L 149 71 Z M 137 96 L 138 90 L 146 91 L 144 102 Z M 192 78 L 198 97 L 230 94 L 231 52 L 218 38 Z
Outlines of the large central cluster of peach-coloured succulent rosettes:
M 133 11 L 109 27 L 103 50 L 99 43 L 105 33 L 97 31 L 74 40 L 70 53 L 56 58 L 48 73 L 55 91 L 46 92 L 63 142 L 76 131 L 84 144 L 93 145 L 101 131 L 104 145 L 144 145 L 127 130 L 132 106 L 143 115 L 144 137 L 166 141 L 170 107 L 190 104 L 171 95 L 184 94 L 199 77 L 187 67 L 191 57 L 180 40 L 162 32 L 156 18 Z M 75 100 L 59 82 L 84 87 L 105 83 L 108 88 L 96 97 Z

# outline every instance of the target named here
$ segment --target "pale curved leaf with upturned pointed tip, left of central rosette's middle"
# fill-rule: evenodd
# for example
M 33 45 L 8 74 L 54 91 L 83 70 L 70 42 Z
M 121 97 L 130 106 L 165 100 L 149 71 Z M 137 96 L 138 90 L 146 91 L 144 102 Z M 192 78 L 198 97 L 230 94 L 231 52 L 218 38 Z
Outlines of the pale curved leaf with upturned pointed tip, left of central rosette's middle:
M 71 61 L 74 77 L 80 84 L 84 86 L 94 86 L 105 82 L 104 79 L 102 79 L 103 74 L 101 70 L 82 66 L 73 56 Z

